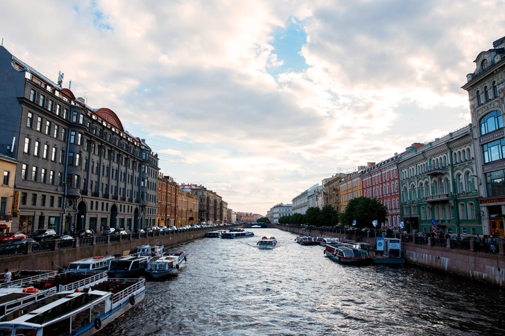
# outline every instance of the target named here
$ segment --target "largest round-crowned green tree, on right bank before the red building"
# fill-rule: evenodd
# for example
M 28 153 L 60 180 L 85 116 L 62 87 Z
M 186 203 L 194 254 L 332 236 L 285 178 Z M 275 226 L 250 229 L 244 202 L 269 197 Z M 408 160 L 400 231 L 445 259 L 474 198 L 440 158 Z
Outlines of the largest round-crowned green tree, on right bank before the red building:
M 357 197 L 349 201 L 341 221 L 345 225 L 352 225 L 356 220 L 356 227 L 373 227 L 372 221 L 386 222 L 388 209 L 377 198 Z

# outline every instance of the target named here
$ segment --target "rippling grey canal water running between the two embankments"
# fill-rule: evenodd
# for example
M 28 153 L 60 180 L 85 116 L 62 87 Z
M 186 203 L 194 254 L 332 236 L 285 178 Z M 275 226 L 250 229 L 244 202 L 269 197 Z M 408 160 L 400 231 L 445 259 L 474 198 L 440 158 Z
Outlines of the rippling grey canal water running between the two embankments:
M 148 281 L 105 335 L 505 335 L 500 288 L 420 267 L 339 265 L 293 233 L 203 238 L 174 247 L 187 267 Z M 275 236 L 273 250 L 258 249 Z

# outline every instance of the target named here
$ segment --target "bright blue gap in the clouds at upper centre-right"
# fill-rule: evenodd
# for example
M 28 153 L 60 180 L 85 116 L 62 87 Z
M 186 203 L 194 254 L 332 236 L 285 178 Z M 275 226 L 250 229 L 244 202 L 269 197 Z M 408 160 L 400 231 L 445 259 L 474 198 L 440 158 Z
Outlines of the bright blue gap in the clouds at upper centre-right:
M 277 61 L 282 61 L 283 64 L 278 67 L 268 67 L 268 73 L 277 77 L 279 73 L 300 72 L 307 69 L 305 58 L 300 56 L 302 46 L 307 44 L 307 33 L 300 21 L 289 19 L 285 27 L 275 30 L 273 38 L 274 41 L 271 43 L 275 48 L 273 53 L 277 55 Z

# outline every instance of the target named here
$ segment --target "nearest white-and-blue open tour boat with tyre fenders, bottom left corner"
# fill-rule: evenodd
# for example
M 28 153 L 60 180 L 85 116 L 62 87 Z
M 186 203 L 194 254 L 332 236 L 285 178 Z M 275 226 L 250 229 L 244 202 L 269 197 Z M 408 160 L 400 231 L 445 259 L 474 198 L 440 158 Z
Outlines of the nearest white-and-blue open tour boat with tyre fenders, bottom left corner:
M 142 301 L 145 292 L 142 278 L 109 279 L 89 290 L 59 292 L 51 302 L 33 302 L 2 319 L 0 335 L 94 335 Z

